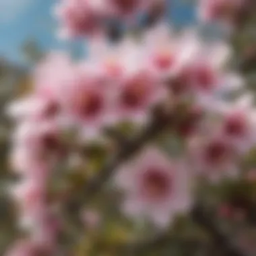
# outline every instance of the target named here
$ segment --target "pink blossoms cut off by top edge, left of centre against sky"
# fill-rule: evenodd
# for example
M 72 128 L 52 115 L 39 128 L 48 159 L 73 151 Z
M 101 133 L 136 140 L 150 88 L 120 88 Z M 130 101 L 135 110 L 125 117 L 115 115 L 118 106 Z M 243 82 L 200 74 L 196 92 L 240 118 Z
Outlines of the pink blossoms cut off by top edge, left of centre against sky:
M 164 7 L 166 0 L 65 0 L 55 7 L 61 38 L 101 36 L 113 20 L 126 26 L 139 15 Z

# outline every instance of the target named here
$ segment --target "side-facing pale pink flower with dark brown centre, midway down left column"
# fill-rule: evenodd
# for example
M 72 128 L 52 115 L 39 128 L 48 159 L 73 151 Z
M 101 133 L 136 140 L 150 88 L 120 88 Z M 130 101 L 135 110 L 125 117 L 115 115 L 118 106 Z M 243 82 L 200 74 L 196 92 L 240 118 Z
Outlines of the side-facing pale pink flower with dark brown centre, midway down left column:
M 53 123 L 22 123 L 13 134 L 11 166 L 16 172 L 47 177 L 49 170 L 63 156 L 59 129 Z

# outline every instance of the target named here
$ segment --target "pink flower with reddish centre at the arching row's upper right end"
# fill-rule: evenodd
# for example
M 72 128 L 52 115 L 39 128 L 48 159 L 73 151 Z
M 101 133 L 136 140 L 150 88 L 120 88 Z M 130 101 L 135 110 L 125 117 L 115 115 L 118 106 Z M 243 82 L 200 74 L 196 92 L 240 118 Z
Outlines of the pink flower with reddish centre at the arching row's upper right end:
M 200 42 L 191 58 L 170 77 L 168 86 L 175 96 L 187 96 L 205 110 L 217 110 L 226 96 L 244 85 L 238 74 L 224 69 L 229 58 L 226 44 Z

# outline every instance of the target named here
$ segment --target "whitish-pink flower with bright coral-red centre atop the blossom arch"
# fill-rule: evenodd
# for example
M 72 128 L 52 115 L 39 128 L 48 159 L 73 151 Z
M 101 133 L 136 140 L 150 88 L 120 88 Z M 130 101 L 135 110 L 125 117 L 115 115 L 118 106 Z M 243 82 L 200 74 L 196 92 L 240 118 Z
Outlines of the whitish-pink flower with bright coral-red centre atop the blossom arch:
M 162 78 L 172 77 L 191 61 L 199 44 L 192 30 L 174 34 L 168 24 L 158 24 L 144 35 L 145 65 Z

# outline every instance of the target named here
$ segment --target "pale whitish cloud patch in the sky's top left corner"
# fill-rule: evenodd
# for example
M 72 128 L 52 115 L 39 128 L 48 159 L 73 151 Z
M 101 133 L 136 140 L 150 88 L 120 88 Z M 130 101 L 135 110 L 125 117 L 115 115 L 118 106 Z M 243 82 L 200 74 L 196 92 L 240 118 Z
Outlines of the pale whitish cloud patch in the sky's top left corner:
M 35 0 L 0 0 L 0 23 L 19 18 Z

